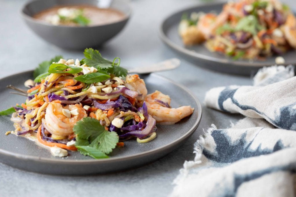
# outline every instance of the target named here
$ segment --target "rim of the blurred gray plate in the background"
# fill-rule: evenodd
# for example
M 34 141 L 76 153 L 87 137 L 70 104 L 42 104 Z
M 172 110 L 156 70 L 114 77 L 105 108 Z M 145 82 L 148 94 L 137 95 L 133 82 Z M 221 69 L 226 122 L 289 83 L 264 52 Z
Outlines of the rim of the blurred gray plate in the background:
M 187 10 L 189 9 L 200 9 L 202 7 L 208 7 L 208 6 L 223 6 L 223 4 L 225 4 L 227 1 L 220 1 L 220 2 L 210 2 L 210 3 L 203 3 L 203 4 L 200 4 L 200 5 L 192 5 L 192 6 L 188 6 L 184 9 L 181 9 L 181 10 L 178 10 L 178 11 L 175 11 L 173 13 L 170 13 L 168 14 L 160 23 L 160 26 L 159 26 L 159 37 L 160 39 L 166 44 L 168 45 L 170 48 L 172 48 L 173 50 L 181 53 L 182 55 L 186 55 L 186 56 L 189 56 L 191 58 L 194 58 L 194 59 L 202 59 L 202 60 L 205 60 L 205 61 L 211 61 L 211 62 L 214 62 L 214 63 L 223 63 L 223 64 L 228 64 L 228 65 L 231 65 L 231 66 L 238 66 L 238 67 L 249 67 L 250 69 L 252 68 L 255 68 L 255 69 L 258 69 L 258 68 L 261 68 L 263 66 L 272 66 L 272 65 L 275 65 L 276 63 L 274 62 L 274 64 L 266 64 L 265 61 L 262 61 L 261 62 L 256 62 L 256 63 L 250 63 L 250 62 L 247 62 L 247 61 L 231 61 L 230 59 L 227 59 L 227 58 L 216 58 L 216 57 L 212 57 L 212 56 L 207 56 L 207 55 L 203 55 L 201 53 L 197 53 L 197 52 L 194 52 L 194 51 L 191 51 L 189 49 L 186 49 L 185 47 L 181 47 L 179 45 L 177 45 L 176 43 L 174 43 L 172 40 L 170 40 L 167 36 L 167 34 L 165 33 L 165 30 L 164 30 L 164 25 L 165 23 L 171 18 L 173 17 L 174 15 L 176 14 L 180 14 L 182 12 L 186 12 Z M 289 64 L 296 64 L 296 62 L 286 62 L 282 65 L 284 66 L 287 66 Z

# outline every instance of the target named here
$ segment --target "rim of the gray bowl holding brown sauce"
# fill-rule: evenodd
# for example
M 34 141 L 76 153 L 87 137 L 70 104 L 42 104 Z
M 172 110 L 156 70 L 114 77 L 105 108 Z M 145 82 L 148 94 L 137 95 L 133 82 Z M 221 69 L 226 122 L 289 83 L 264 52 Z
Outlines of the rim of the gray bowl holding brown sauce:
M 38 19 L 34 19 L 33 17 L 29 16 L 28 14 L 26 14 L 24 12 L 26 6 L 28 6 L 29 4 L 32 4 L 36 1 L 44 1 L 44 0 L 31 0 L 31 1 L 28 1 L 26 2 L 20 9 L 20 15 L 23 17 L 23 19 L 26 19 L 26 20 L 29 20 L 30 22 L 33 22 L 33 23 L 37 23 L 37 24 L 40 24 L 40 25 L 45 25 L 45 26 L 49 26 L 49 27 L 65 27 L 65 28 L 91 28 L 91 27 L 105 27 L 105 26 L 109 26 L 109 25 L 113 25 L 113 24 L 117 24 L 117 23 L 120 23 L 120 22 L 124 22 L 124 21 L 127 21 L 130 17 L 131 17 L 131 14 L 132 14 L 132 6 L 131 6 L 131 1 L 130 0 L 116 0 L 116 1 L 121 1 L 123 3 L 125 3 L 127 6 L 128 6 L 128 12 L 127 13 L 124 13 L 125 14 L 125 17 L 123 19 L 120 19 L 119 21 L 115 21 L 115 22 L 110 22 L 110 23 L 106 23 L 106 24 L 102 24 L 102 25 L 91 25 L 91 26 L 68 26 L 68 25 L 53 25 L 49 22 L 45 22 L 43 20 L 38 20 Z M 97 0 L 98 1 L 98 0 Z M 81 4 L 86 4 L 86 2 L 81 2 Z M 56 5 L 59 5 L 59 4 L 56 4 Z M 69 4 L 69 5 L 77 5 L 77 4 Z M 95 6 L 95 7 L 98 7 L 98 6 Z M 99 8 L 99 7 L 98 7 Z M 43 9 L 44 10 L 44 9 Z M 117 10 L 117 9 L 115 9 Z

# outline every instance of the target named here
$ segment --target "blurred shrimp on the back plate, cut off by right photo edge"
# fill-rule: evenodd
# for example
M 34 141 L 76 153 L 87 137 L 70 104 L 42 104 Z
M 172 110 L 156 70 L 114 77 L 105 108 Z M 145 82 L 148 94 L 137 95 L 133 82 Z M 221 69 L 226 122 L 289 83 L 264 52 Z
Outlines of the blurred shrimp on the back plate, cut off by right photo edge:
M 283 25 L 283 32 L 288 43 L 296 48 L 296 18 L 293 14 L 287 16 L 287 20 Z

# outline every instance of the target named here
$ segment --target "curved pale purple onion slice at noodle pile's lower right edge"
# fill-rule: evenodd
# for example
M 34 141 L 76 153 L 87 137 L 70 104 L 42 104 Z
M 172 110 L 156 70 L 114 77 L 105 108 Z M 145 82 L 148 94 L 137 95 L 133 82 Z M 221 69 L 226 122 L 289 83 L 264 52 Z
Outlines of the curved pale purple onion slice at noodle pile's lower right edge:
M 139 130 L 130 131 L 130 132 L 127 132 L 123 135 L 120 135 L 119 137 L 126 138 L 126 137 L 130 137 L 130 136 L 135 136 L 140 139 L 143 139 L 144 137 L 148 136 L 155 129 L 155 125 L 156 125 L 156 120 L 154 118 L 152 118 L 151 115 L 149 115 L 146 127 L 142 131 L 139 131 Z

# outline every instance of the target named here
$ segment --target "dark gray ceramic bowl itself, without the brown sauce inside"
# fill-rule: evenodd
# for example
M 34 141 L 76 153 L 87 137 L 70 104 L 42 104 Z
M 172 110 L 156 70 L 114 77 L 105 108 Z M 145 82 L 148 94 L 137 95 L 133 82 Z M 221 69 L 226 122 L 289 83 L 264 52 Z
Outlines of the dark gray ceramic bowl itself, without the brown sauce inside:
M 131 15 L 129 1 L 104 1 L 110 2 L 109 8 L 119 10 L 126 15 L 122 20 L 106 25 L 84 27 L 52 25 L 46 21 L 34 19 L 33 16 L 44 9 L 59 5 L 86 4 L 102 8 L 101 2 L 100 0 L 35 0 L 23 6 L 21 15 L 30 29 L 47 42 L 65 49 L 84 49 L 101 45 L 123 29 Z

